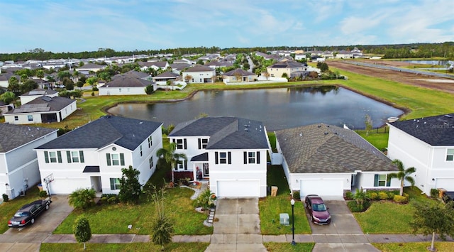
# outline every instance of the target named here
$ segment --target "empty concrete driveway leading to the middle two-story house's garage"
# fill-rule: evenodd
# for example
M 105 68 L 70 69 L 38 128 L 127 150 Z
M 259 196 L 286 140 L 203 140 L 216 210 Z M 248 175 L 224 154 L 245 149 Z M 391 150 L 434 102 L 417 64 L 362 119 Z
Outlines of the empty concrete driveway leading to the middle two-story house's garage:
M 206 251 L 267 251 L 260 234 L 258 198 L 218 199 Z

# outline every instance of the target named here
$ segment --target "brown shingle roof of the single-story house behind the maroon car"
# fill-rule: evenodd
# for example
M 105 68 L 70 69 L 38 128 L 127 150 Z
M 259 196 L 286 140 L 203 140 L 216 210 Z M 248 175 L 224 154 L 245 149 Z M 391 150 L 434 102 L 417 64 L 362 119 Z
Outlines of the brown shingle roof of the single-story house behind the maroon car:
M 313 124 L 276 131 L 292 173 L 397 171 L 380 150 L 355 131 Z

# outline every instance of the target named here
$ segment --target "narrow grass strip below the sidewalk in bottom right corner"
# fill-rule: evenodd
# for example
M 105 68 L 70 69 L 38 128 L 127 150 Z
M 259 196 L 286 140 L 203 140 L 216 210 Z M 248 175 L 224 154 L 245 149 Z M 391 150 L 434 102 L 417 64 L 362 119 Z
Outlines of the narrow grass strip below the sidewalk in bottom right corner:
M 430 242 L 408 242 L 408 243 L 372 243 L 375 248 L 383 252 L 426 252 L 426 248 L 431 246 Z M 453 242 L 436 242 L 435 248 L 438 252 L 454 251 Z

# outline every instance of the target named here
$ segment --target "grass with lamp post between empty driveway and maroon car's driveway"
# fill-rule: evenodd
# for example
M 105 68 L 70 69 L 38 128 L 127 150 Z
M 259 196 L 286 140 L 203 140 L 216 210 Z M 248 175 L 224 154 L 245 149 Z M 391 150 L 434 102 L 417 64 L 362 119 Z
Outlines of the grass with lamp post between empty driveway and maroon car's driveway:
M 267 184 L 277 186 L 277 196 L 267 196 L 259 201 L 260 230 L 262 234 L 292 234 L 292 205 L 290 190 L 280 165 L 272 165 L 267 171 Z M 279 214 L 287 213 L 290 225 L 279 222 Z M 297 200 L 294 205 L 295 234 L 311 234 L 311 227 L 304 211 L 304 205 Z

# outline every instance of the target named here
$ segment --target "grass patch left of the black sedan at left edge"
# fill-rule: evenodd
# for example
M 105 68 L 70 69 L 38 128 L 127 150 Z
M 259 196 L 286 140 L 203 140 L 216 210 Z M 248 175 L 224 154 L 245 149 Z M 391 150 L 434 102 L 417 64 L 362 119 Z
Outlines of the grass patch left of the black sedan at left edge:
M 4 185 L 3 185 L 4 186 Z M 27 192 L 26 196 L 19 196 L 9 202 L 3 202 L 0 204 L 0 234 L 3 234 L 8 227 L 8 220 L 20 209 L 24 204 L 33 202 L 36 199 L 40 199 L 38 195 L 38 187 L 31 187 Z

